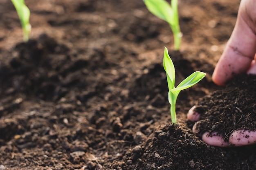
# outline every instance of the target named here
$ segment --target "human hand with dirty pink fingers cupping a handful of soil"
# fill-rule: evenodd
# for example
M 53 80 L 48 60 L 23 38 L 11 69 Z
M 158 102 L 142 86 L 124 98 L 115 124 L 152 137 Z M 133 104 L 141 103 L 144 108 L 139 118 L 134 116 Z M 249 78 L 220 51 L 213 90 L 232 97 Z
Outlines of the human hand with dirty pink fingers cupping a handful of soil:
M 218 64 L 213 72 L 213 82 L 218 85 L 225 83 L 240 73 L 256 74 L 256 3 L 254 0 L 241 0 L 238 18 L 234 31 L 222 53 Z M 256 144 L 256 132 L 249 130 L 234 130 L 226 136 L 198 131 L 198 127 L 203 120 L 200 114 L 195 112 L 195 106 L 187 114 L 190 121 L 196 122 L 193 132 L 202 137 L 202 140 L 212 146 L 245 146 Z M 234 113 L 235 114 L 235 113 Z

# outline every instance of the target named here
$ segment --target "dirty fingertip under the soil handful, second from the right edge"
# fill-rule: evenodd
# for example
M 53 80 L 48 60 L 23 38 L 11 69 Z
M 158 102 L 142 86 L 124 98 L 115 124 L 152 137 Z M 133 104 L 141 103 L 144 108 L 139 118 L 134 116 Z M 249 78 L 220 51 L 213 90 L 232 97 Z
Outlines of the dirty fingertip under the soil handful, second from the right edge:
M 219 147 L 229 147 L 229 142 L 224 140 L 224 137 L 217 132 L 205 132 L 202 135 L 202 140 L 211 146 L 219 146 Z

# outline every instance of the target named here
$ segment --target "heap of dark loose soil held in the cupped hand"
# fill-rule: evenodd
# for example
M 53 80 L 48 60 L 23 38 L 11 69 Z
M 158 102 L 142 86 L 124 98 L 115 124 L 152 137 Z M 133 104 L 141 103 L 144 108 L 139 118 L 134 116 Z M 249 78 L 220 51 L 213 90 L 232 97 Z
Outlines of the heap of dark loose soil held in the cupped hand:
M 198 101 L 195 110 L 200 114 L 197 130 L 217 132 L 229 139 L 234 130 L 256 130 L 256 76 L 240 75 Z

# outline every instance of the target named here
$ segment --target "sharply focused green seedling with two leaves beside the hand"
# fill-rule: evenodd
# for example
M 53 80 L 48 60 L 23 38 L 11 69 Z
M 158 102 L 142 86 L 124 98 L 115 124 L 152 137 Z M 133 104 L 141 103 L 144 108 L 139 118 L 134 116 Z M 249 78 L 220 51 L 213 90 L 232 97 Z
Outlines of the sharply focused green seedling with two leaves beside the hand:
M 187 89 L 195 84 L 197 84 L 201 79 L 203 79 L 206 73 L 195 71 L 189 77 L 184 79 L 176 88 L 175 84 L 175 68 L 173 65 L 173 61 L 171 60 L 168 50 L 166 47 L 164 48 L 164 70 L 166 72 L 167 83 L 168 83 L 168 101 L 171 104 L 171 121 L 172 124 L 177 124 L 176 119 L 176 101 L 180 91 Z

